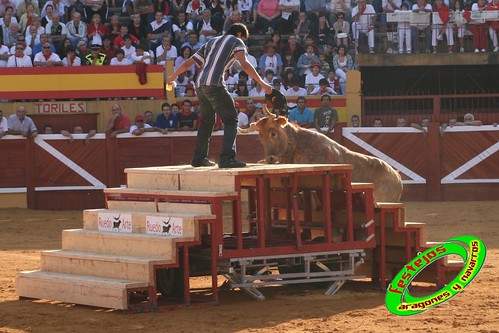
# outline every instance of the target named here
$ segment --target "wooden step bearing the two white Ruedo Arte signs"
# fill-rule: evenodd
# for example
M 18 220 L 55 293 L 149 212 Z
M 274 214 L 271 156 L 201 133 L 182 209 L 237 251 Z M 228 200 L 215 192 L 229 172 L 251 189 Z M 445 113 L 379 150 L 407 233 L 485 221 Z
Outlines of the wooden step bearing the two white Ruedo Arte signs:
M 197 228 L 197 221 L 200 220 L 213 220 L 213 214 L 198 214 L 198 213 L 161 213 L 161 212 L 133 212 L 129 210 L 114 210 L 114 209 L 87 209 L 83 212 L 83 229 L 100 230 L 100 231 L 124 231 L 111 228 L 110 223 L 114 221 L 131 222 L 132 233 L 147 233 L 157 234 L 157 228 L 168 225 L 175 225 L 181 227 L 181 233 L 173 232 L 171 229 L 165 229 L 171 235 L 176 234 L 183 237 L 195 237 L 199 232 Z M 103 221 L 106 221 L 104 223 Z M 155 225 L 152 228 L 151 225 Z M 148 227 L 149 226 L 149 227 Z M 129 229 L 129 228 L 128 228 Z M 167 236 L 167 234 L 165 234 Z

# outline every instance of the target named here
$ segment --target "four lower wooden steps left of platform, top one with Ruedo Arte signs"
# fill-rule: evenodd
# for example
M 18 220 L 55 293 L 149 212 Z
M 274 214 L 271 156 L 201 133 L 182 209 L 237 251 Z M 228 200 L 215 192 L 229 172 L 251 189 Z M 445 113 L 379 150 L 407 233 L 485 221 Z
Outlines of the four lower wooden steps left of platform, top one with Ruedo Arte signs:
M 130 189 L 106 191 L 116 194 Z M 156 269 L 178 267 L 179 244 L 199 242 L 199 221 L 215 216 L 209 205 L 201 204 L 162 204 L 158 209 L 147 202 L 121 206 L 111 202 L 110 206 L 118 210 L 84 211 L 83 229 L 63 231 L 62 250 L 42 251 L 41 269 L 18 275 L 17 295 L 120 310 L 156 310 Z M 102 221 L 109 216 L 121 219 L 121 225 L 103 230 Z M 128 218 L 127 230 L 123 224 Z M 154 222 L 171 219 L 181 221 L 181 232 L 165 232 L 165 223 L 152 227 Z M 142 297 L 135 303 L 137 294 Z

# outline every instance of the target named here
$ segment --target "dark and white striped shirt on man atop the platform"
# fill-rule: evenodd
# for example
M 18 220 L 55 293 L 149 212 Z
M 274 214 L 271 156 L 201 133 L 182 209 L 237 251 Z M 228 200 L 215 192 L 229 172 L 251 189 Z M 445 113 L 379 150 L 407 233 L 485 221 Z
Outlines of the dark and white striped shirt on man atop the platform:
M 246 45 L 233 35 L 215 37 L 206 42 L 192 56 L 201 68 L 196 87 L 225 85 L 224 73 L 236 60 L 238 52 L 246 52 Z

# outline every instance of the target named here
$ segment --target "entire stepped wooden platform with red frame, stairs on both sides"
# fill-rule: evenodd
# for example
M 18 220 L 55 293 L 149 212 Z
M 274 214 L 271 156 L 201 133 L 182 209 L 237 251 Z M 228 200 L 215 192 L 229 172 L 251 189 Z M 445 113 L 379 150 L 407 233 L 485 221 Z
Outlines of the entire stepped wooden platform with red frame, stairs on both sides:
M 362 273 L 384 288 L 391 270 L 431 244 L 424 224 L 405 221 L 403 204 L 375 205 L 373 185 L 352 183 L 351 172 L 344 164 L 126 169 L 127 187 L 105 189 L 107 208 L 84 211 L 83 228 L 64 230 L 62 249 L 43 251 L 41 270 L 19 274 L 16 292 L 153 311 L 159 291 L 170 283 L 183 290 L 181 302 L 190 304 L 189 277 L 195 274 L 190 266 L 206 266 L 201 274 L 211 274 L 217 303 L 217 275 L 224 272 L 235 272 L 229 273 L 232 283 L 263 297 L 251 284 L 236 281 L 248 274 L 239 271 L 246 263 L 256 262 L 252 268 L 259 271 L 261 258 L 271 259 L 279 270 L 291 267 L 290 274 L 300 277 L 296 281 L 312 283 L 320 275 L 320 281 L 332 282 L 348 276 L 335 274 L 339 266 L 330 258 L 343 255 L 349 276 L 357 278 L 365 252 Z M 327 268 L 322 275 L 296 273 L 317 253 L 314 260 Z M 191 262 L 196 258 L 208 261 Z M 165 270 L 177 278 L 165 282 Z M 146 305 L 132 302 L 135 292 L 147 298 Z

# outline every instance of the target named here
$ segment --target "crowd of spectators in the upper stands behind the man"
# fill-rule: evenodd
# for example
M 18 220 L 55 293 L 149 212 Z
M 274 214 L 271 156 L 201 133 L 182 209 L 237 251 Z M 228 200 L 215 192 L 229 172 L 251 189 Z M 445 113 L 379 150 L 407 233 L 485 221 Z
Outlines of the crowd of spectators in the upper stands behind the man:
M 0 0 L 0 67 L 122 66 L 172 60 L 177 68 L 204 43 L 241 22 L 253 34 L 267 36 L 263 49 L 248 58 L 283 94 L 345 94 L 346 73 L 355 68 L 349 46 L 366 35 L 373 53 L 375 29 L 387 31 L 393 25 L 387 22 L 387 13 L 437 12 L 442 20 L 428 26 L 400 22 L 400 53 L 420 52 L 420 31 L 426 36 L 422 45 L 426 52 L 436 52 L 444 37 L 452 52 L 455 34 L 463 52 L 468 29 L 475 35 L 475 52 L 485 52 L 489 39 L 490 49 L 499 51 L 497 21 L 449 23 L 452 11 L 499 10 L 499 0 L 461 1 L 124 0 L 118 16 L 109 10 L 117 5 L 114 0 Z M 179 76 L 177 97 L 195 97 L 196 75 L 192 66 Z M 264 94 L 237 62 L 225 79 L 234 96 Z

